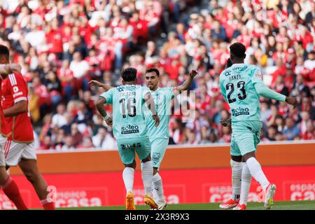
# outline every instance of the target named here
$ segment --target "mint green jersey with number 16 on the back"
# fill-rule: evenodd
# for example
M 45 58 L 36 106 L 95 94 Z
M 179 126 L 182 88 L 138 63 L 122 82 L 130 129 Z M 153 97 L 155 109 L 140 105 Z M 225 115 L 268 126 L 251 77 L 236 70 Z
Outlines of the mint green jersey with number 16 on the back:
M 106 104 L 113 104 L 113 135 L 116 139 L 148 136 L 144 116 L 146 94 L 150 91 L 141 85 L 120 85 L 99 96 L 106 99 Z

